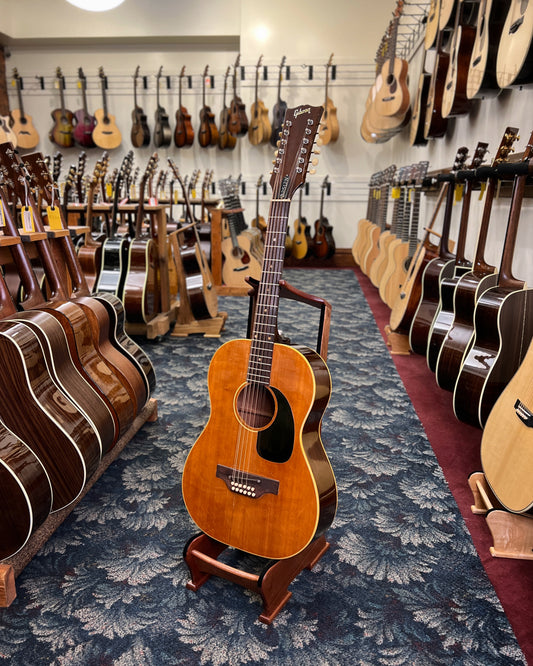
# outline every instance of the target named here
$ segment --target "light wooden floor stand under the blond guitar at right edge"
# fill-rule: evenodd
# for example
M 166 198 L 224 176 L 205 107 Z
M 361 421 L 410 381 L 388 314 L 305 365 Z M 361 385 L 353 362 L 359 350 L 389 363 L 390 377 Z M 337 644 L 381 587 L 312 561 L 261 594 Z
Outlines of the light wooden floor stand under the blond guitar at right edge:
M 493 557 L 533 560 L 533 516 L 507 511 L 494 496 L 483 472 L 468 477 L 474 504 L 472 513 L 484 515 L 492 535 Z

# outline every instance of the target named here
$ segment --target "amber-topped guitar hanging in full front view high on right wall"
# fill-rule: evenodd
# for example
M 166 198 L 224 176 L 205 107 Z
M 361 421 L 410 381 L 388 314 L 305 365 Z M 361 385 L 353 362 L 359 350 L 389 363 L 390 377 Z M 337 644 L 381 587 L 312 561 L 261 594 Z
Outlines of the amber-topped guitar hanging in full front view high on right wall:
M 382 85 L 374 100 L 374 110 L 379 116 L 404 117 L 410 104 L 407 82 L 408 64 L 396 55 L 398 24 L 403 9 L 403 0 L 398 0 L 388 45 L 387 59 L 381 69 Z

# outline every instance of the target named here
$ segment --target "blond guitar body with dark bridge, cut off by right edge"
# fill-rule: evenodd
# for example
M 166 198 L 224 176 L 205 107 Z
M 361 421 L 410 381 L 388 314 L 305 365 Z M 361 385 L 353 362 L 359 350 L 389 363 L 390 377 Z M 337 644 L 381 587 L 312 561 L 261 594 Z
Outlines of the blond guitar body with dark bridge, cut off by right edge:
M 532 363 L 530 346 L 492 408 L 481 440 L 481 464 L 487 483 L 504 508 L 515 513 L 530 511 L 533 505 Z

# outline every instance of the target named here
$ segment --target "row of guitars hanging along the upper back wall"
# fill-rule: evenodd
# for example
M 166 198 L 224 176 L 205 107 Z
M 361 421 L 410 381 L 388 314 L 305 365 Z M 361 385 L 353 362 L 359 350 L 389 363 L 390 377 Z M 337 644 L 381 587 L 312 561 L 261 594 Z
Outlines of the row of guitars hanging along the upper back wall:
M 276 146 L 279 133 L 283 123 L 287 103 L 281 98 L 281 83 L 283 80 L 283 69 L 286 68 L 284 56 L 279 65 L 278 94 L 277 101 L 272 109 L 272 120 L 264 102 L 259 97 L 260 72 L 263 71 L 261 56 L 255 68 L 255 100 L 249 112 L 237 91 L 237 80 L 239 78 L 240 54 L 235 63 L 228 66 L 224 76 L 224 94 L 222 98 L 222 109 L 219 114 L 218 123 L 211 107 L 206 103 L 206 87 L 213 77 L 209 76 L 209 65 L 205 66 L 202 74 L 202 105 L 199 112 L 199 124 L 194 129 L 191 114 L 183 105 L 182 92 L 190 77 L 185 74 L 182 67 L 179 74 L 178 101 L 175 111 L 175 123 L 171 126 L 170 116 L 160 101 L 160 89 L 162 81 L 170 82 L 170 76 L 163 74 L 163 67 L 159 68 L 156 75 L 156 110 L 152 128 L 148 122 L 147 114 L 138 103 L 138 81 L 146 82 L 146 77 L 141 77 L 140 66 L 133 74 L 133 110 L 130 139 L 134 148 L 149 146 L 151 143 L 155 148 L 166 148 L 174 145 L 176 148 L 187 148 L 191 146 L 195 138 L 202 148 L 218 146 L 221 150 L 233 150 L 240 137 L 248 136 L 251 145 L 256 146 L 263 143 L 271 143 Z M 330 69 L 332 67 L 333 54 L 326 64 L 326 84 L 324 94 L 324 112 L 320 126 L 320 141 L 323 145 L 333 143 L 339 136 L 339 124 L 337 120 L 337 109 L 328 94 Z M 100 80 L 102 107 L 91 113 L 87 107 L 87 80 L 80 67 L 78 69 L 78 85 L 82 94 L 82 107 L 72 112 L 65 105 L 65 79 L 60 67 L 56 69 L 55 83 L 58 90 L 59 106 L 52 111 L 53 126 L 48 133 L 50 141 L 62 148 L 80 146 L 82 148 L 98 147 L 104 150 L 118 148 L 122 143 L 122 132 L 119 129 L 115 116 L 109 113 L 107 100 L 107 77 L 104 68 L 98 70 Z M 227 88 L 233 87 L 233 97 L 228 104 Z M 16 69 L 13 70 L 13 85 L 17 90 L 18 109 L 13 109 L 6 116 L 0 117 L 0 139 L 11 141 L 21 148 L 35 148 L 39 143 L 39 133 L 33 124 L 33 119 L 24 112 L 23 106 L 23 80 Z M 211 87 L 211 86 L 209 86 Z

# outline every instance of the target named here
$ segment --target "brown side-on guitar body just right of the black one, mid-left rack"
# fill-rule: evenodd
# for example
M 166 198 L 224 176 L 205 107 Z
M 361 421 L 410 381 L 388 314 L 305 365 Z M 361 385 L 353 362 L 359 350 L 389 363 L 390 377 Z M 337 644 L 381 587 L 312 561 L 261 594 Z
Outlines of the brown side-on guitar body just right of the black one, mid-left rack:
M 158 267 L 157 243 L 152 238 L 132 240 L 122 292 L 128 322 L 148 323 L 159 314 Z

